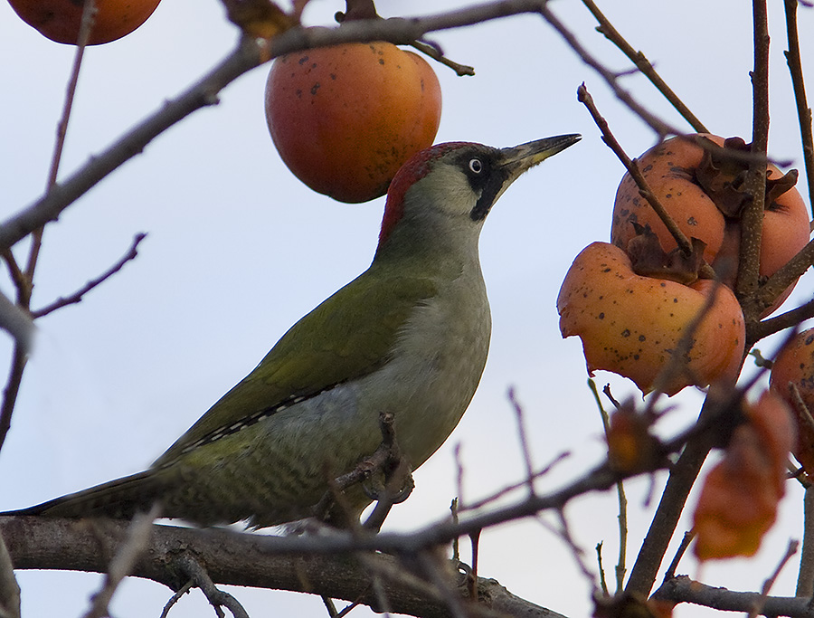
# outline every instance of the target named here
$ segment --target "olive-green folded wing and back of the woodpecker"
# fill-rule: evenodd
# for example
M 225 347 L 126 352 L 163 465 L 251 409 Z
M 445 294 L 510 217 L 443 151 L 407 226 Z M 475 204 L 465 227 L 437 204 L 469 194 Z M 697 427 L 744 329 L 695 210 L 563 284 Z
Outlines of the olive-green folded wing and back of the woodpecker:
M 223 427 L 292 396 L 315 395 L 365 376 L 388 360 L 412 309 L 435 295 L 434 281 L 384 277 L 374 266 L 323 301 L 280 338 L 260 365 L 214 404 L 156 462 L 173 461 L 185 448 Z

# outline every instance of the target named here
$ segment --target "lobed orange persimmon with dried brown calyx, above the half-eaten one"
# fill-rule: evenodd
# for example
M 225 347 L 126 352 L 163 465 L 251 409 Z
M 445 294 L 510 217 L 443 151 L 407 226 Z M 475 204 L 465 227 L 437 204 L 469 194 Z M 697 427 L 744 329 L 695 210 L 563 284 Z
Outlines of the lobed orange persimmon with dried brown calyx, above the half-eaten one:
M 696 138 L 707 138 L 717 146 L 748 148 L 739 138 L 724 139 L 706 134 L 699 134 Z M 740 215 L 748 199 L 739 185 L 746 166 L 743 160 L 713 156 L 691 139 L 672 138 L 639 157 L 639 166 L 648 185 L 681 231 L 687 237 L 705 242 L 705 260 L 714 267 L 723 260 L 732 260 L 720 270 L 729 272 L 734 278 L 741 233 Z M 784 176 L 780 169 L 769 164 L 767 176 L 760 257 L 763 277 L 771 277 L 809 242 L 809 216 L 800 192 L 794 187 L 796 172 Z M 626 249 L 636 235 L 631 223 L 649 225 L 667 251 L 676 246 L 672 234 L 647 200 L 639 195 L 633 178 L 626 174 L 616 194 L 611 242 Z M 788 292 L 790 289 L 783 298 Z M 776 303 L 772 310 L 779 304 Z

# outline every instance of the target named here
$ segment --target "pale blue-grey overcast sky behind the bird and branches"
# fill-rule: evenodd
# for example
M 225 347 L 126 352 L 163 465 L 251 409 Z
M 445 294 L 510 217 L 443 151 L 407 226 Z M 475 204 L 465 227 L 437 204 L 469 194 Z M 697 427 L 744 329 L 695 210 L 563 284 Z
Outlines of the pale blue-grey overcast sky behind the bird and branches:
M 620 32 L 656 62 L 708 127 L 749 140 L 748 3 L 602 4 Z M 770 154 L 801 167 L 799 129 L 781 53 L 782 3 L 770 4 Z M 380 0 L 378 8 L 389 16 L 464 5 Z M 343 6 L 338 0 L 313 0 L 306 22 L 330 24 Z M 629 69 L 620 52 L 593 31 L 595 22 L 580 3 L 561 0 L 551 6 L 603 62 L 614 70 Z M 814 12 L 809 9 L 800 9 L 800 31 L 804 69 L 814 75 Z M 197 80 L 232 49 L 236 36 L 216 0 L 164 0 L 135 33 L 89 49 L 62 177 Z M 577 87 L 585 81 L 630 156 L 655 139 L 539 17 L 516 16 L 431 38 L 450 58 L 477 71 L 474 78 L 459 78 L 433 65 L 444 97 L 437 141 L 504 147 L 573 132 L 583 139 L 518 180 L 489 216 L 481 238 L 494 322 L 489 361 L 459 428 L 416 472 L 416 490 L 388 519 L 387 528 L 401 530 L 447 515 L 456 492 L 456 444 L 466 470 L 465 500 L 522 479 L 516 419 L 506 399 L 509 386 L 525 407 L 535 464 L 572 453 L 541 480 L 540 490 L 556 489 L 600 461 L 601 421 L 585 385 L 580 342 L 560 338 L 554 302 L 576 254 L 589 242 L 608 240 L 623 169 L 577 102 Z M 73 48 L 43 38 L 0 3 L 0 57 L 0 217 L 5 219 L 43 191 Z M 219 106 L 195 113 L 157 138 L 47 228 L 34 307 L 107 269 L 135 233 L 148 237 L 137 261 L 80 305 L 38 322 L 36 354 L 0 453 L 0 509 L 142 470 L 248 373 L 291 324 L 369 264 L 383 198 L 338 204 L 289 173 L 263 116 L 268 71 L 266 65 L 234 82 Z M 650 109 L 686 128 L 643 78 L 629 76 L 623 83 Z M 805 191 L 803 176 L 800 181 Z M 809 299 L 812 285 L 809 273 L 786 307 Z M 2 287 L 11 293 L 7 282 Z M 7 357 L 10 346 L 0 339 L 0 355 Z M 760 347 L 771 356 L 776 343 Z M 620 399 L 638 393 L 627 380 L 597 376 L 600 386 L 608 381 Z M 665 433 L 693 420 L 701 395 L 686 392 L 673 401 L 677 409 L 665 419 Z M 663 483 L 664 475 L 658 475 L 656 496 Z M 628 566 L 654 507 L 644 503 L 648 488 L 647 479 L 628 484 Z M 781 518 L 758 556 L 710 564 L 703 573 L 687 556 L 679 571 L 703 576 L 711 585 L 759 589 L 789 538 L 800 537 L 800 513 L 801 491 L 790 483 Z M 612 580 L 618 547 L 615 492 L 574 500 L 566 514 L 594 569 L 593 547 L 604 542 Z M 686 520 L 682 528 L 689 528 Z M 783 571 L 775 594 L 793 594 L 795 561 Z M 590 613 L 588 583 L 563 541 L 540 521 L 487 530 L 480 574 L 558 612 Z M 78 616 L 100 582 L 99 575 L 71 573 L 19 573 L 18 578 L 26 617 Z M 315 596 L 230 592 L 252 617 L 325 613 Z M 131 579 L 112 611 L 118 618 L 157 617 L 170 595 L 164 586 Z M 678 618 L 713 614 L 687 606 L 675 613 Z M 170 615 L 212 611 L 196 591 Z M 355 615 L 369 613 L 359 609 Z

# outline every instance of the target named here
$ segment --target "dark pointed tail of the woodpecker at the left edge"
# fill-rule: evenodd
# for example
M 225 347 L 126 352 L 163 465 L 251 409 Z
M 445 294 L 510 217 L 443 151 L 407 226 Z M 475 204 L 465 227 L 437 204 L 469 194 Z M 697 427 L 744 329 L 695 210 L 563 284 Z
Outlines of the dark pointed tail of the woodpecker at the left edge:
M 0 512 L 0 515 L 129 519 L 151 509 L 161 497 L 163 485 L 155 471 L 138 472 L 27 509 Z

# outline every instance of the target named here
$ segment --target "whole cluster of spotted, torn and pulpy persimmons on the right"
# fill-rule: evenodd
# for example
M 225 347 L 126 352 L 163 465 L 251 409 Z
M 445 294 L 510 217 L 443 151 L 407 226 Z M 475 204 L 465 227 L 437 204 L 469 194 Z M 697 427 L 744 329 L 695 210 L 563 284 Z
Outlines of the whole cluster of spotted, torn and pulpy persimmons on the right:
M 724 147 L 724 150 L 716 147 Z M 611 242 L 593 242 L 573 261 L 557 299 L 563 337 L 579 336 L 588 370 L 629 377 L 642 393 L 675 395 L 689 385 L 734 385 L 744 358 L 744 317 L 734 294 L 749 150 L 740 138 L 668 139 L 639 158 L 648 190 L 677 234 L 632 176 L 622 179 Z M 734 152 L 732 156 L 731 152 Z M 771 277 L 809 242 L 796 171 L 766 169 L 759 274 Z M 762 317 L 778 309 L 794 284 Z M 751 556 L 771 528 L 784 493 L 789 453 L 814 471 L 814 329 L 785 346 L 771 388 L 730 406 L 734 430 L 707 474 L 695 510 L 696 555 Z M 796 421 L 796 423 L 795 423 Z M 622 404 L 611 416 L 611 465 L 643 465 L 652 419 Z

